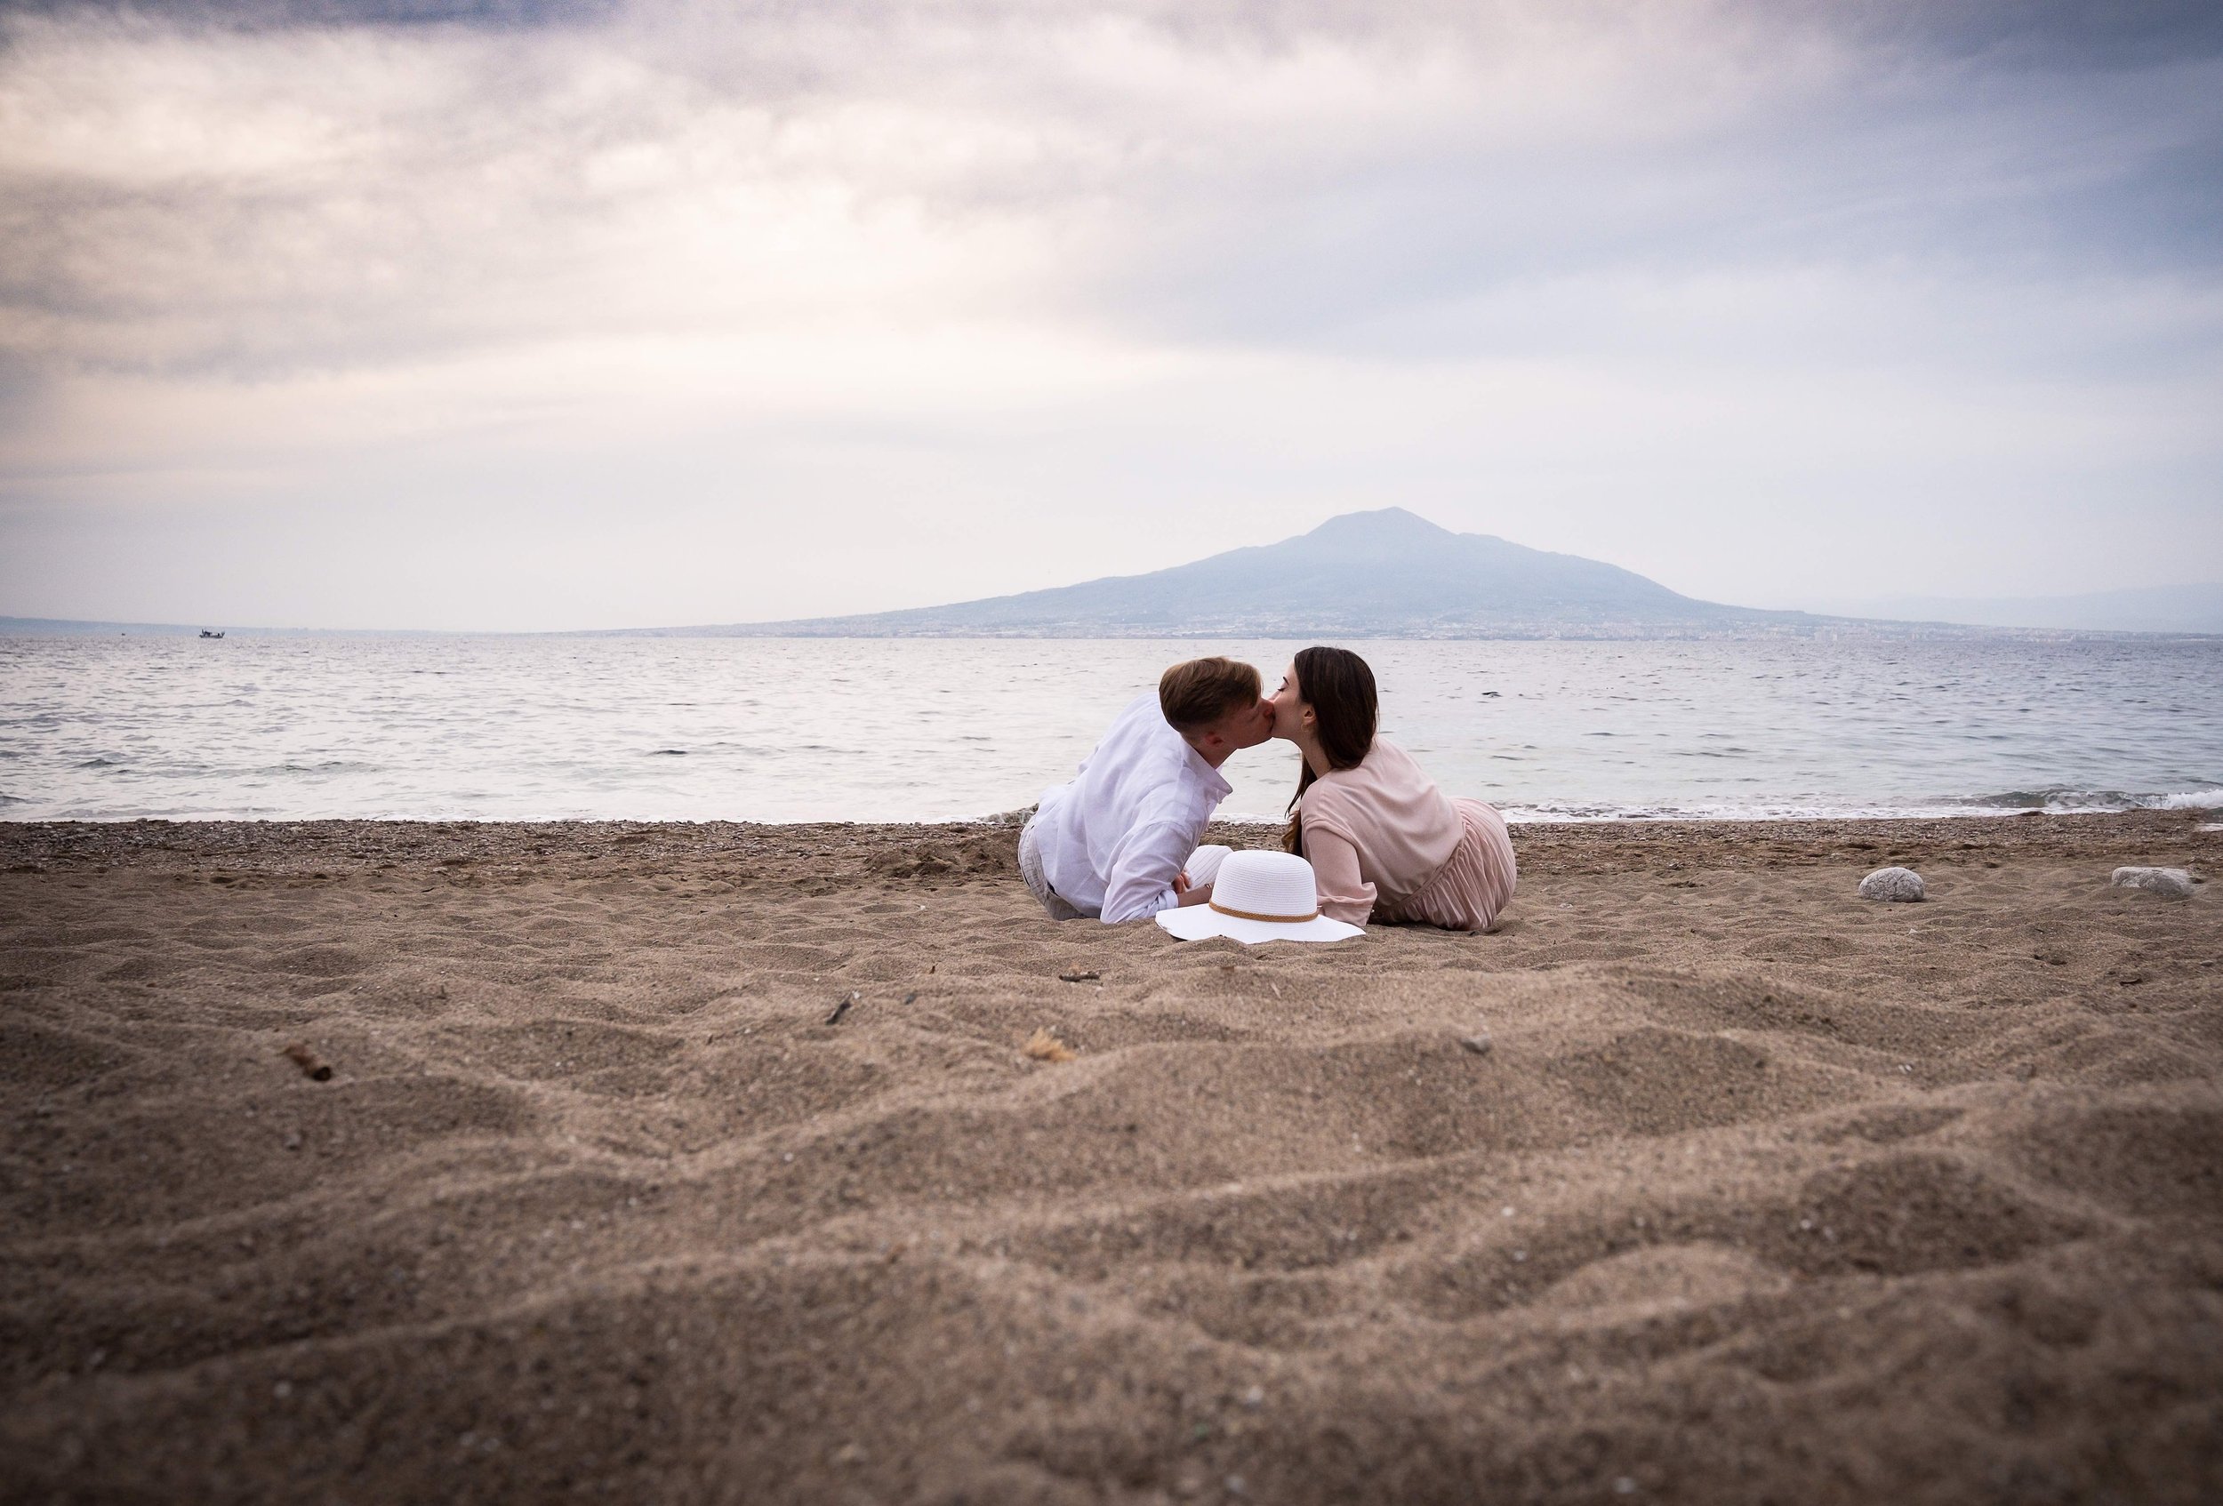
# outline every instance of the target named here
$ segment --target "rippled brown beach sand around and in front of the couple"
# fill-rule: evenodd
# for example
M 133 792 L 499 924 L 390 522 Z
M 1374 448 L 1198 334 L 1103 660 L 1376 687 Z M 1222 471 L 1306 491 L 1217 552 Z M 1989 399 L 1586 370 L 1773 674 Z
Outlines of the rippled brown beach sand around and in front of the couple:
M 2216 1499 L 2201 824 L 1265 948 L 1007 826 L 0 826 L 0 1497 Z

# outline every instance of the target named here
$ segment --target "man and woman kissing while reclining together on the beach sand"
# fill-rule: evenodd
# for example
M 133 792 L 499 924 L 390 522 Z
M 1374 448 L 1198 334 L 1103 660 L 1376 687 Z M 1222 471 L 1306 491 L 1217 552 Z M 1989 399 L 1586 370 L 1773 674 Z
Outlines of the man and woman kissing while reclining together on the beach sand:
M 1369 920 L 1487 931 L 1518 877 L 1505 817 L 1481 800 L 1447 797 L 1405 749 L 1376 733 L 1378 722 L 1374 671 L 1349 649 L 1303 649 L 1272 697 L 1249 664 L 1174 664 L 1156 695 L 1120 711 L 1078 777 L 1043 793 L 1018 835 L 1020 877 L 1051 920 L 1116 924 L 1200 904 L 1249 915 L 1225 897 L 1214 904 L 1232 853 L 1198 840 L 1229 793 L 1220 764 L 1280 737 L 1305 757 L 1283 835 L 1283 851 L 1303 864 L 1260 880 L 1252 869 L 1289 860 L 1234 855 L 1225 886 L 1240 869 L 1247 884 L 1287 891 L 1305 866 L 1312 911 L 1343 922 L 1336 937 Z M 1285 902 L 1252 920 L 1300 917 Z M 1176 935 L 1252 940 L 1243 926 L 1176 924 L 1172 915 L 1160 924 Z

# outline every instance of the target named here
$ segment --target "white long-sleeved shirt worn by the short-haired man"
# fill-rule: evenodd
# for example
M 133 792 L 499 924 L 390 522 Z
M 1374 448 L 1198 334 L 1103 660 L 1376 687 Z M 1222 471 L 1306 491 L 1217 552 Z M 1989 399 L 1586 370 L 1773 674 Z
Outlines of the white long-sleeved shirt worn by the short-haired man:
M 1034 813 L 1043 877 L 1105 924 L 1172 908 L 1174 875 L 1229 789 L 1158 711 L 1158 693 L 1136 695 L 1080 777 L 1043 793 Z

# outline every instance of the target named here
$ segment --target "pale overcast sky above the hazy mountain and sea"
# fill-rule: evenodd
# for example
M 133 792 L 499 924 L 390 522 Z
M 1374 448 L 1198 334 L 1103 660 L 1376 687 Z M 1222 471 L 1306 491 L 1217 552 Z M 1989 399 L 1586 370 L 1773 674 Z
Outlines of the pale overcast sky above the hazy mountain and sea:
M 0 13 L 0 613 L 2223 578 L 2223 7 Z

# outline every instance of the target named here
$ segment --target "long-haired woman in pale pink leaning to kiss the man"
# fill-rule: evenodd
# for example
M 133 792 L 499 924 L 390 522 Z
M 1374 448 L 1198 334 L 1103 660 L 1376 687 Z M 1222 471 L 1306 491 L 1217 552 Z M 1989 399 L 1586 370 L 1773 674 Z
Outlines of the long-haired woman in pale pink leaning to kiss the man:
M 1365 660 L 1296 655 L 1274 693 L 1274 735 L 1305 755 L 1283 846 L 1312 860 L 1323 915 L 1487 931 L 1514 897 L 1505 817 L 1447 800 L 1405 749 L 1374 735 L 1378 720 Z

